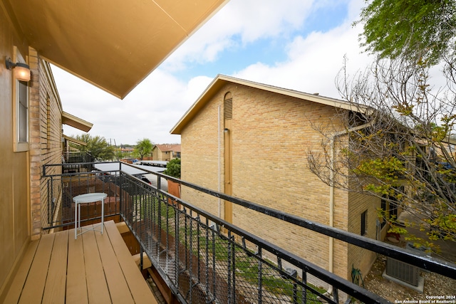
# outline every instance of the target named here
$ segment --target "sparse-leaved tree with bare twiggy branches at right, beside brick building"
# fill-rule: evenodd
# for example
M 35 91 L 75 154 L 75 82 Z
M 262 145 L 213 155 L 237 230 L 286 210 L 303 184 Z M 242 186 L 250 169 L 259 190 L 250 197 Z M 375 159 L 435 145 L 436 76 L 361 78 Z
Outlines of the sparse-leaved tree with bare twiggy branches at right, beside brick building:
M 336 83 L 354 111 L 341 111 L 334 121 L 343 122 L 348 136 L 333 137 L 340 126 L 319 128 L 328 140 L 308 154 L 309 169 L 326 184 L 408 211 L 413 221 L 405 224 L 428 236 L 408 238 L 430 247 L 437 238 L 456 241 L 454 66 L 447 66 L 440 88 L 429 85 L 429 65 L 401 56 L 354 77 L 343 68 Z M 407 233 L 388 212 L 379 213 L 393 231 Z

